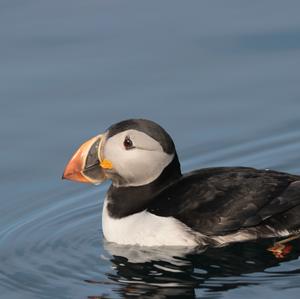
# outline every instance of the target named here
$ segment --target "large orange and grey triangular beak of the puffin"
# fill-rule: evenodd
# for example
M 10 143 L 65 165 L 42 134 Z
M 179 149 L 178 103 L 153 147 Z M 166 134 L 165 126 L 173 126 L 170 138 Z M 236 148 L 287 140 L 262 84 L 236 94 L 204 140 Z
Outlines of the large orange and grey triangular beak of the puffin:
M 103 135 L 98 135 L 83 143 L 68 162 L 63 179 L 100 184 L 106 179 L 100 162 L 100 148 Z

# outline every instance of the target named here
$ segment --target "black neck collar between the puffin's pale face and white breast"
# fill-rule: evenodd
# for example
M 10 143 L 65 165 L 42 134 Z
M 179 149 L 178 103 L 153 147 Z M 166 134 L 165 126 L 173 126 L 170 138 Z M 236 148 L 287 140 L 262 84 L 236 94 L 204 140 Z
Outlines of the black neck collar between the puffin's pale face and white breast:
M 111 185 L 107 193 L 109 215 L 113 218 L 123 218 L 145 210 L 162 190 L 180 179 L 181 176 L 180 163 L 175 153 L 172 162 L 155 181 L 136 187 Z

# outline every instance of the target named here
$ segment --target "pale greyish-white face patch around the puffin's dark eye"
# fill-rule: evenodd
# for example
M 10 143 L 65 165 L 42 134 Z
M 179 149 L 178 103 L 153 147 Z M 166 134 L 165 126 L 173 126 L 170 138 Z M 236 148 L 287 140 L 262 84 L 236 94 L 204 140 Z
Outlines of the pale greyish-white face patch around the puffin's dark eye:
M 124 141 L 127 140 L 127 143 Z M 132 146 L 130 145 L 130 139 Z M 125 146 L 127 144 L 127 146 Z M 115 186 L 140 186 L 154 181 L 172 161 L 155 139 L 137 130 L 118 133 L 105 141 L 102 159 L 112 162 L 112 180 Z M 117 180 L 118 174 L 122 178 Z

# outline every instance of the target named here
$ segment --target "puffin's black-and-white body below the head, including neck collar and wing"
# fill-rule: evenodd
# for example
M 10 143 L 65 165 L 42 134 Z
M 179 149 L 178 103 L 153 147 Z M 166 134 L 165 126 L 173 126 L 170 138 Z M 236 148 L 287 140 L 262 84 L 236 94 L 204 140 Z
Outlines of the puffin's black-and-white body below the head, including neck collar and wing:
M 107 240 L 223 245 L 287 236 L 299 228 L 300 219 L 287 217 L 293 209 L 300 213 L 299 176 L 243 167 L 207 168 L 179 176 L 155 193 L 152 188 L 157 187 L 110 188 L 102 220 Z

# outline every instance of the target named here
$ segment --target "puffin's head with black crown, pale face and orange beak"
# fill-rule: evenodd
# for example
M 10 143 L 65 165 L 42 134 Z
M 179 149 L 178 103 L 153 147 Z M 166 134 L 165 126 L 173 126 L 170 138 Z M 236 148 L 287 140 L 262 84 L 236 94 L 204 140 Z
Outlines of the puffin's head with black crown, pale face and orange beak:
M 174 143 L 158 124 L 130 119 L 112 125 L 104 134 L 83 143 L 68 162 L 63 178 L 100 184 L 141 186 L 156 180 L 176 159 Z M 177 166 L 176 166 L 177 167 Z

